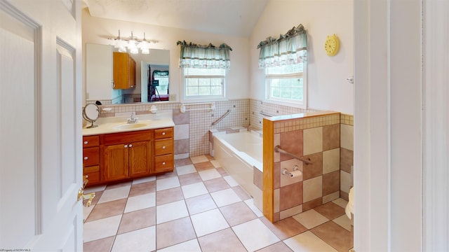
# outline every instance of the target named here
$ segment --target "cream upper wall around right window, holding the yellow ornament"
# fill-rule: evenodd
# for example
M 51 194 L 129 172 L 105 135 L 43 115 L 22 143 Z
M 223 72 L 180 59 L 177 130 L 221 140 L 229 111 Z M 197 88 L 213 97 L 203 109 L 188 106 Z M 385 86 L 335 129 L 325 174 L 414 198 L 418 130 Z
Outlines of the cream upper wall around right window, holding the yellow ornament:
M 268 36 L 277 38 L 299 24 L 307 29 L 309 108 L 353 114 L 354 85 L 346 80 L 354 75 L 351 0 L 269 1 L 250 36 L 250 98 L 264 99 L 264 71 L 257 68 L 257 45 Z M 340 51 L 328 57 L 324 41 L 331 34 L 340 38 Z

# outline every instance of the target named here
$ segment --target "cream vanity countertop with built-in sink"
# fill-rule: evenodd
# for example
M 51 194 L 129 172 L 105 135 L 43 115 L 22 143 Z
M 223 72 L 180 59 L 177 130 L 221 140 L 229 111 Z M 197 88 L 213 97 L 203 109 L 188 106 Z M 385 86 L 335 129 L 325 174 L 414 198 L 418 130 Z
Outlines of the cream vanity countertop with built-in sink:
M 138 123 L 135 125 L 127 124 L 128 117 L 113 117 L 113 118 L 98 118 L 94 125 L 98 127 L 87 128 L 91 123 L 83 127 L 83 136 L 91 136 L 96 134 L 110 134 L 110 133 L 120 133 L 120 132 L 131 132 L 138 130 L 152 130 L 159 129 L 163 127 L 174 127 L 173 118 L 168 114 L 158 113 L 158 114 L 148 114 L 148 115 L 137 115 L 139 118 Z M 140 127 L 134 127 L 140 126 Z M 132 128 L 119 128 L 119 127 L 132 127 Z

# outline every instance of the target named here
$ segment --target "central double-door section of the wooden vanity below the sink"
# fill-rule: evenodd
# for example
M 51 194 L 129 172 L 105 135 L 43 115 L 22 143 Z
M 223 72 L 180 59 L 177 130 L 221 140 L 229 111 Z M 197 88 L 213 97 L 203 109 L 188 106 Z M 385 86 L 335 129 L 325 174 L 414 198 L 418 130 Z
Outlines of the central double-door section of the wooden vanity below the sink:
M 152 130 L 100 135 L 104 182 L 149 175 Z

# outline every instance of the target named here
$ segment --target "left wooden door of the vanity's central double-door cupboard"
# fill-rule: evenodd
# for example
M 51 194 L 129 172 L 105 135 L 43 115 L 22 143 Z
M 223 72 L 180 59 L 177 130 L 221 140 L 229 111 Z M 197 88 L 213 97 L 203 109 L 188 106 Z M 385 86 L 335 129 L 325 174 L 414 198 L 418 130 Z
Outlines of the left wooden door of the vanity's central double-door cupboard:
M 128 179 L 128 144 L 105 146 L 103 156 L 103 177 L 105 181 Z

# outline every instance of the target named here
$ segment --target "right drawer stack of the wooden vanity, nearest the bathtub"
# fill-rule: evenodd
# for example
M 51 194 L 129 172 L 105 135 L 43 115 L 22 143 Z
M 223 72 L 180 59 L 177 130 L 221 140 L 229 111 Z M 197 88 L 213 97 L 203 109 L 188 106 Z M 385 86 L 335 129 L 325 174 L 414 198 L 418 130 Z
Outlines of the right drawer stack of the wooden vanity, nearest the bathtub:
M 154 130 L 153 173 L 170 172 L 175 166 L 173 127 Z

